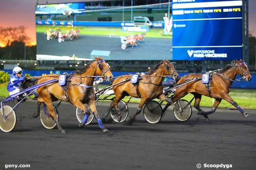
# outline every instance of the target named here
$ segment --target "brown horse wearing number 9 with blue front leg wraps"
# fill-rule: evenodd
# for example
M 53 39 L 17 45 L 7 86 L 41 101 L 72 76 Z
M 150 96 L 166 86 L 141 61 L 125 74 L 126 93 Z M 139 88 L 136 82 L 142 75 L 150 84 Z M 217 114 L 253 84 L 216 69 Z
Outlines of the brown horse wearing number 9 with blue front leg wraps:
M 48 107 L 50 117 L 55 121 L 61 133 L 66 133 L 65 130 L 59 124 L 57 118 L 54 114 L 54 108 L 52 102 L 54 101 L 66 101 L 74 104 L 74 106 L 83 110 L 86 114 L 85 119 L 88 118 L 90 112 L 92 112 L 97 119 L 100 128 L 103 132 L 108 132 L 108 130 L 103 126 L 100 117 L 98 116 L 95 99 L 94 99 L 94 90 L 93 90 L 93 82 L 96 75 L 103 75 L 105 79 L 108 81 L 113 80 L 113 75 L 109 70 L 108 64 L 102 60 L 102 57 L 97 58 L 95 57 L 96 61 L 91 63 L 90 66 L 85 68 L 83 71 L 76 71 L 74 74 L 70 76 L 70 81 L 68 82 L 68 88 L 65 92 L 61 86 L 59 86 L 58 82 L 54 82 L 51 84 L 46 84 L 37 89 L 39 93 L 38 102 L 44 102 Z M 58 79 L 59 75 L 46 75 L 40 77 L 37 80 L 37 84 L 46 82 L 52 79 Z M 88 104 L 90 110 L 88 110 L 84 104 Z M 83 123 L 79 125 L 79 127 L 83 127 L 87 120 L 83 120 Z

